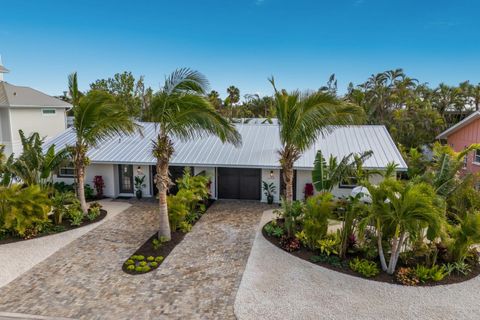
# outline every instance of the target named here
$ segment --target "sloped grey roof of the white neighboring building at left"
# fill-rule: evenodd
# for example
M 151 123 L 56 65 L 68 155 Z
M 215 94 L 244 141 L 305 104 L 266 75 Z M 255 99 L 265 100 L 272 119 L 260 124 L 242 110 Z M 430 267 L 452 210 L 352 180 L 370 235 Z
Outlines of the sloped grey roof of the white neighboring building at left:
M 0 81 L 0 107 L 71 108 L 72 105 L 38 90 Z

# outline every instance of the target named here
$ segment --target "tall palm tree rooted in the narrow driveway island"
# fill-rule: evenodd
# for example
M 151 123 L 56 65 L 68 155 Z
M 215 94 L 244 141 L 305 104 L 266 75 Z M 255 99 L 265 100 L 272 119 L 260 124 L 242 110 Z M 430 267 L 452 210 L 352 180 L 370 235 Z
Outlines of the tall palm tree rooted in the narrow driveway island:
M 238 145 L 241 141 L 233 124 L 216 112 L 205 98 L 207 87 L 208 81 L 201 73 L 187 68 L 178 69 L 166 78 L 163 88 L 155 94 L 150 105 L 148 120 L 155 122 L 158 129 L 152 152 L 157 159 L 159 237 L 171 238 L 167 190 L 171 184 L 168 166 L 174 152 L 172 139 L 187 140 L 202 134 L 213 134 L 222 142 Z

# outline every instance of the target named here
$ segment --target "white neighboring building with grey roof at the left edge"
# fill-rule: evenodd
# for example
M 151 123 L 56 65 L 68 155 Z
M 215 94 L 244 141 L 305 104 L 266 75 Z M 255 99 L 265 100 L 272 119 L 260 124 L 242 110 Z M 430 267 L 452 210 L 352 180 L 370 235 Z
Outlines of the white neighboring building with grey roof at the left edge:
M 6 82 L 8 72 L 0 60 L 0 144 L 5 145 L 7 156 L 22 152 L 20 129 L 26 135 L 38 132 L 46 139 L 65 131 L 66 113 L 72 107 L 35 89 Z

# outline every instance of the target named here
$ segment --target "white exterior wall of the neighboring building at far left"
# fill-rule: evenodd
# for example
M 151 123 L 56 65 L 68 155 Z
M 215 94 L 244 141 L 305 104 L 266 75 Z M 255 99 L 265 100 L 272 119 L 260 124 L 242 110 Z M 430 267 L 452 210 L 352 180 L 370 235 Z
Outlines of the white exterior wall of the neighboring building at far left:
M 56 112 L 52 115 L 44 115 L 42 109 L 55 109 Z M 18 130 L 22 129 L 27 136 L 38 132 L 40 137 L 48 139 L 67 128 L 65 108 L 16 107 L 9 109 L 9 115 L 12 150 L 16 155 L 22 152 Z

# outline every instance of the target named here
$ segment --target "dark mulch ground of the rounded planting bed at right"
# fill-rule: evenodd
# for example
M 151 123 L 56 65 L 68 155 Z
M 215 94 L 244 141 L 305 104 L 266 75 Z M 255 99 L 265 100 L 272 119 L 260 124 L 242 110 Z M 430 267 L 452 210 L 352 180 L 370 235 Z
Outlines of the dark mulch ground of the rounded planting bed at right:
M 282 219 L 277 219 L 274 220 L 274 224 L 276 224 L 279 228 L 283 229 L 284 222 Z M 378 281 L 378 282 L 386 282 L 386 283 L 391 283 L 391 284 L 397 284 L 397 285 L 405 285 L 403 283 L 400 283 L 396 279 L 396 274 L 394 275 L 389 275 L 385 272 L 380 271 L 378 274 L 375 276 L 371 277 L 364 277 L 360 273 L 353 271 L 350 268 L 350 262 L 356 258 L 358 259 L 363 259 L 364 257 L 360 253 L 355 253 L 351 252 L 346 256 L 345 259 L 341 259 L 338 255 L 330 254 L 327 255 L 325 253 L 321 253 L 320 250 L 310 250 L 309 248 L 306 248 L 302 245 L 298 247 L 298 249 L 295 249 L 293 251 L 286 250 L 285 247 L 281 243 L 281 236 L 275 236 L 273 234 L 269 234 L 266 230 L 265 227 L 267 225 L 271 224 L 271 222 L 268 222 L 265 224 L 262 228 L 262 234 L 267 239 L 270 243 L 275 245 L 281 250 L 284 250 L 285 252 L 290 253 L 291 255 L 309 261 L 310 263 L 316 264 L 318 266 L 322 266 L 324 268 L 334 270 L 337 272 L 345 273 L 351 276 L 359 277 L 359 278 L 364 278 L 368 280 L 373 280 L 373 281 Z M 379 263 L 377 263 L 378 265 Z M 403 264 L 399 263 L 399 270 L 403 267 L 407 267 Z M 410 266 L 412 267 L 412 266 Z M 472 278 L 477 277 L 480 274 L 480 265 L 477 263 L 475 265 L 470 266 L 470 272 L 467 273 L 466 275 L 463 275 L 458 272 L 452 272 L 449 275 L 445 276 L 442 280 L 439 281 L 427 281 L 424 283 L 418 282 L 415 285 L 416 286 L 437 286 L 437 285 L 447 285 L 447 284 L 454 284 L 454 283 L 460 283 L 463 281 L 470 280 Z

